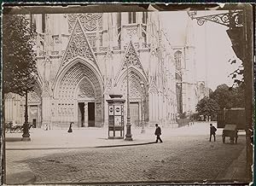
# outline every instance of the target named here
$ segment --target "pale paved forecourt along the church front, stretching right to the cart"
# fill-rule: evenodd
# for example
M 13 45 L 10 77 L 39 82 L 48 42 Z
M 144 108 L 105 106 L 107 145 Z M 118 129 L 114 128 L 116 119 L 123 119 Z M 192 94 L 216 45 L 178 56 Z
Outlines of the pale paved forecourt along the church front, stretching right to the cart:
M 215 124 L 216 125 L 216 124 Z M 104 128 L 79 128 L 72 133 L 67 130 L 32 129 L 30 131 L 31 142 L 22 142 L 21 133 L 6 133 L 6 149 L 66 149 L 66 148 L 103 148 L 114 146 L 143 145 L 155 142 L 154 127 L 146 127 L 145 133 L 141 128 L 132 128 L 133 141 L 124 139 L 108 139 L 108 127 Z M 222 130 L 217 131 L 221 135 Z M 204 123 L 183 126 L 180 128 L 162 127 L 162 139 L 173 136 L 207 135 L 209 126 Z M 119 135 L 117 132 L 116 136 Z

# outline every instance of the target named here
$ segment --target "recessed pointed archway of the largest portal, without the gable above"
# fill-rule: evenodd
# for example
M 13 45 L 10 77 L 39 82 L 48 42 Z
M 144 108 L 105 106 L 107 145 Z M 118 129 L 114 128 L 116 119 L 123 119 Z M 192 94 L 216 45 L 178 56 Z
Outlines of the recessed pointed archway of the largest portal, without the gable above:
M 61 126 L 103 125 L 102 78 L 86 61 L 78 59 L 62 71 L 55 84 L 56 117 Z

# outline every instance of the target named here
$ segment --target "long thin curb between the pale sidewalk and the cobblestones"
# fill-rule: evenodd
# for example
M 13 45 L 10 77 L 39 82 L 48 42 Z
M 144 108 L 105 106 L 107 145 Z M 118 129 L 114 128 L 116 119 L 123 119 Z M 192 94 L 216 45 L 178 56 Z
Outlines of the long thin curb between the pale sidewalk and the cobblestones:
M 119 144 L 119 145 L 77 147 L 77 148 L 5 148 L 5 150 L 55 150 L 55 149 L 85 149 L 85 148 L 118 148 L 118 147 L 148 145 L 148 144 L 154 144 L 154 143 L 155 142 L 141 142 L 141 143 L 134 143 L 134 144 Z

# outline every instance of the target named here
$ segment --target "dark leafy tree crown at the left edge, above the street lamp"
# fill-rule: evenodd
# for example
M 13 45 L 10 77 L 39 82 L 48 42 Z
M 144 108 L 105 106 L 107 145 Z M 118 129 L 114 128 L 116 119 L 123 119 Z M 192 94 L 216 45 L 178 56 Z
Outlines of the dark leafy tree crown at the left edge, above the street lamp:
M 3 15 L 3 93 L 25 96 L 36 74 L 33 32 L 24 15 Z

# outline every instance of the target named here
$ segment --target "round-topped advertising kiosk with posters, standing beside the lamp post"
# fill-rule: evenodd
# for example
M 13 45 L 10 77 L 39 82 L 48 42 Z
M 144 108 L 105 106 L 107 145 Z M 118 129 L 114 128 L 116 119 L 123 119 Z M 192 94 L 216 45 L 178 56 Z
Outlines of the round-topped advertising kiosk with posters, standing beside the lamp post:
M 112 90 L 108 102 L 108 139 L 124 139 L 124 103 L 118 91 Z M 117 136 L 119 133 L 119 136 Z

